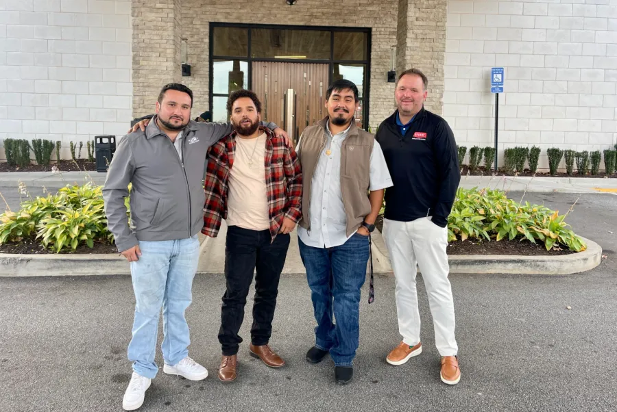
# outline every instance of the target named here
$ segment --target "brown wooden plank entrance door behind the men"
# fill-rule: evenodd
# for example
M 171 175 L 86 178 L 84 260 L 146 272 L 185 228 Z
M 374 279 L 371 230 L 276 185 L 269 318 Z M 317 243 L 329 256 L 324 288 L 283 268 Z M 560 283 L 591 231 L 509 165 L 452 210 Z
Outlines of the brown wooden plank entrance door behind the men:
M 302 131 L 326 117 L 328 64 L 253 62 L 252 88 L 262 102 L 262 118 L 283 129 L 294 123 L 293 140 Z M 285 116 L 285 94 L 293 89 L 295 110 L 293 118 Z

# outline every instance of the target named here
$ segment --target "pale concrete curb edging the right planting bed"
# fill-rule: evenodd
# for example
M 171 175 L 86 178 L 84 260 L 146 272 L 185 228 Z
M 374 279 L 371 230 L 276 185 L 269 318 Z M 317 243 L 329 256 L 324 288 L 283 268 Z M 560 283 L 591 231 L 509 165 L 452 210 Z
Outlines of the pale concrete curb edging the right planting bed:
M 373 236 L 375 236 L 374 232 Z M 381 234 L 379 236 L 381 238 Z M 474 274 L 574 274 L 596 268 L 602 259 L 602 247 L 596 242 L 581 237 L 587 249 L 580 253 L 560 256 L 521 256 L 521 255 L 448 255 L 450 273 Z M 373 246 L 378 245 L 373 242 Z M 383 272 L 392 273 L 389 254 L 383 239 L 379 255 L 385 259 Z M 375 257 L 373 250 L 373 257 Z M 377 272 L 377 270 L 375 270 Z M 420 270 L 418 270 L 420 272 Z

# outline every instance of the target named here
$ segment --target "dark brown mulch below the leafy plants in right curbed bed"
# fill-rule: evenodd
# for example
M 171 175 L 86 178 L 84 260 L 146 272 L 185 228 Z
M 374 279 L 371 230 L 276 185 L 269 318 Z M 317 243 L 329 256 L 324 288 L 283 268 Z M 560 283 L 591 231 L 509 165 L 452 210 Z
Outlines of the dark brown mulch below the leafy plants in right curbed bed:
M 383 217 L 378 216 L 375 226 L 379 231 L 383 230 Z M 465 240 L 448 243 L 448 255 L 522 255 L 522 256 L 557 256 L 576 253 L 574 250 L 557 249 L 553 247 L 546 250 L 544 244 L 533 244 L 529 240 L 520 238 L 516 240 L 500 240 L 499 242 L 486 242 L 479 240 Z

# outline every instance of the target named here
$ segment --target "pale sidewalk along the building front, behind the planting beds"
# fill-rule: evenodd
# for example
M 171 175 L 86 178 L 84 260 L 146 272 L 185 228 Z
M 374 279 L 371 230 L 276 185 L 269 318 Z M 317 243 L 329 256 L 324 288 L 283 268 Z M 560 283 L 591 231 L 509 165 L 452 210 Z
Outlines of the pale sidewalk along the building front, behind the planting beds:
M 67 184 L 82 184 L 93 181 L 105 183 L 106 173 L 99 172 L 3 172 L 0 173 L 0 187 L 14 187 L 20 181 L 29 187 L 60 188 Z M 492 189 L 509 192 L 563 192 L 563 193 L 614 193 L 617 194 L 617 179 L 594 177 L 503 177 L 503 176 L 461 176 L 461 187 Z

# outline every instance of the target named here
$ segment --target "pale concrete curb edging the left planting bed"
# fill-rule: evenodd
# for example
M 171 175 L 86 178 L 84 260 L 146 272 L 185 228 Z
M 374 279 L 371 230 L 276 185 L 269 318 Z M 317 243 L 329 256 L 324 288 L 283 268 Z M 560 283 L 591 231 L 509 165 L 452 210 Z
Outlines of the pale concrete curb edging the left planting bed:
M 199 255 L 209 237 L 199 233 Z M 12 255 L 0 253 L 0 277 L 93 276 L 131 274 L 129 263 L 118 253 L 82 255 Z

